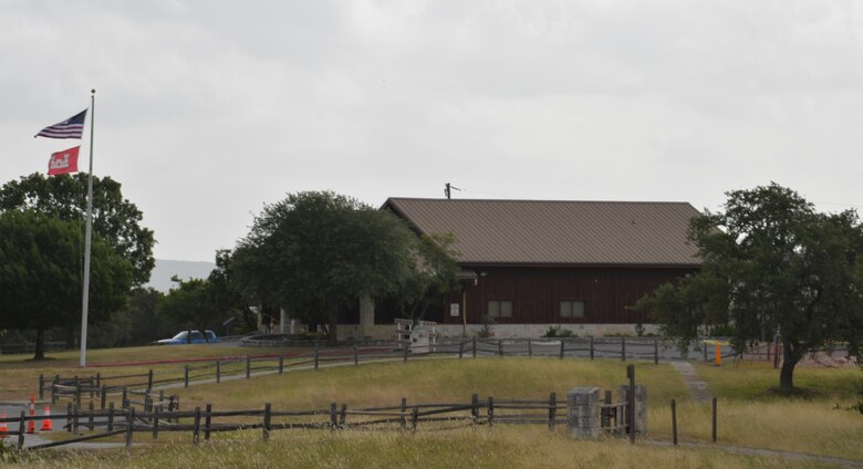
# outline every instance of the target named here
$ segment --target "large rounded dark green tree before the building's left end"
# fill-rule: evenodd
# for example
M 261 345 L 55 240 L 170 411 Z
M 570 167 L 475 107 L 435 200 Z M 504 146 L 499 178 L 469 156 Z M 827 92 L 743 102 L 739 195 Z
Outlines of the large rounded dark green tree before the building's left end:
M 288 195 L 264 206 L 235 253 L 241 290 L 294 317 L 327 324 L 339 311 L 402 288 L 416 237 L 392 213 L 330 191 Z

